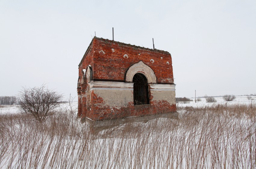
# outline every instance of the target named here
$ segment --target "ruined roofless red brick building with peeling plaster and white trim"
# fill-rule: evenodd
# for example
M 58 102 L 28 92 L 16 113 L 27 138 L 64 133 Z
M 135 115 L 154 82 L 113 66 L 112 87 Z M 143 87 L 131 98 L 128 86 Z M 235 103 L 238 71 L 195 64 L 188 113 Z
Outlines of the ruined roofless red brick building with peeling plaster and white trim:
M 147 78 L 149 104 L 134 105 L 133 77 Z M 176 112 L 170 53 L 92 39 L 79 64 L 78 117 L 93 121 Z

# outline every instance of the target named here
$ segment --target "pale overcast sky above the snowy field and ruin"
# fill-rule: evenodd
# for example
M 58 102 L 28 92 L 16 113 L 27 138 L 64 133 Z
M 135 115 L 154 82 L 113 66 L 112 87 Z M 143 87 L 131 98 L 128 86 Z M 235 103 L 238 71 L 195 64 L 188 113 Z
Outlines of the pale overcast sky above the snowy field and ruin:
M 0 96 L 47 83 L 76 97 L 96 36 L 171 53 L 176 97 L 256 93 L 256 1 L 0 1 Z M 77 97 L 76 97 L 77 98 Z

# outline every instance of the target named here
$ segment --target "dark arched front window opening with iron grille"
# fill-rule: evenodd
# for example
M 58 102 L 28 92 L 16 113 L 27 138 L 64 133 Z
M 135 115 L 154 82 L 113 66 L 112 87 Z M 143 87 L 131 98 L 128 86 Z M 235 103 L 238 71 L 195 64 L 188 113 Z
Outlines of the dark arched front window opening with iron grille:
M 133 76 L 133 101 L 134 105 L 149 104 L 148 80 L 141 74 Z

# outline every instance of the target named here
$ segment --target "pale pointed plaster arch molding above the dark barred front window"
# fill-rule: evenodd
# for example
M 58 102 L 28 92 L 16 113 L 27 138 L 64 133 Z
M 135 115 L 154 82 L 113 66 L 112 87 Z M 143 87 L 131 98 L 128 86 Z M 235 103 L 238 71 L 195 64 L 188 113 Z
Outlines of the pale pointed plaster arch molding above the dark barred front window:
M 143 63 L 142 61 L 132 65 L 128 69 L 128 71 L 126 73 L 125 81 L 126 82 L 133 82 L 133 76 L 136 73 L 144 74 L 145 77 L 147 77 L 148 83 L 157 83 L 155 72 L 148 65 Z

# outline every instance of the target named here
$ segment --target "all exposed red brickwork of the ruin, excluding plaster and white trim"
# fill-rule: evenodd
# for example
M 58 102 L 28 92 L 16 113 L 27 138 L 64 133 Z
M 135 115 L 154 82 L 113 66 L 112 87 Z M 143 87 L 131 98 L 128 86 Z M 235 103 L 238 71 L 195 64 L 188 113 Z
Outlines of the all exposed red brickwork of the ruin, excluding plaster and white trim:
M 101 50 L 103 50 L 105 54 L 99 52 Z M 127 54 L 129 58 L 123 58 L 125 54 Z M 154 63 L 150 62 L 151 59 L 154 59 Z M 79 78 L 81 80 L 83 77 L 82 70 L 86 69 L 88 65 L 91 65 L 93 80 L 125 81 L 128 68 L 140 61 L 144 62 L 155 72 L 157 83 L 173 83 L 172 59 L 170 53 L 101 38 L 94 38 L 89 45 L 79 64 Z M 169 62 L 169 65 L 166 64 L 167 62 Z M 78 95 L 85 96 L 86 90 L 87 82 L 78 86 Z M 176 104 L 170 105 L 167 101 L 150 101 L 149 105 L 138 106 L 134 106 L 133 102 L 131 102 L 128 107 L 122 107 L 120 109 L 106 106 L 97 107 L 95 105 L 102 104 L 104 101 L 102 98 L 95 95 L 93 91 L 91 92 L 91 110 L 86 106 L 87 97 L 83 97 L 81 100 L 78 98 L 78 116 L 82 118 L 88 117 L 93 120 L 103 120 L 176 111 Z M 151 98 L 152 96 L 150 94 L 150 100 Z

